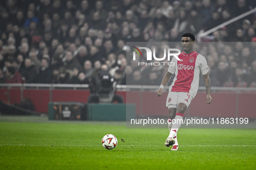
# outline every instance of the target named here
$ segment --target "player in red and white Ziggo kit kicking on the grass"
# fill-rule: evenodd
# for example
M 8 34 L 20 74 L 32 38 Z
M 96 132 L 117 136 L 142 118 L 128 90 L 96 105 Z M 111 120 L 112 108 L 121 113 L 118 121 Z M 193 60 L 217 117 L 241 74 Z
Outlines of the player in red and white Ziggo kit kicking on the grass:
M 181 44 L 184 51 L 178 55 L 180 60 L 172 58 L 173 66 L 169 66 L 168 71 L 162 79 L 158 96 L 161 96 L 162 91 L 170 77 L 175 74 L 172 85 L 169 87 L 169 94 L 166 100 L 166 107 L 169 110 L 169 136 L 165 141 L 165 146 L 172 146 L 172 151 L 178 150 L 177 132 L 181 126 L 183 115 L 188 108 L 191 100 L 195 97 L 198 91 L 199 75 L 202 72 L 206 87 L 207 104 L 211 104 L 211 80 L 208 75 L 209 67 L 206 59 L 201 54 L 198 54 L 193 49 L 195 37 L 191 33 L 182 35 Z M 175 120 L 175 121 L 174 121 Z M 173 121 L 173 123 L 172 123 Z

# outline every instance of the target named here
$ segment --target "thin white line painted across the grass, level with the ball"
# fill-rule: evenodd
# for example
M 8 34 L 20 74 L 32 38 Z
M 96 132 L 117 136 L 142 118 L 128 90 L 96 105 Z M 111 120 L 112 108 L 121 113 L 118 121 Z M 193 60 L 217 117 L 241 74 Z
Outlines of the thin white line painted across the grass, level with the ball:
M 99 145 L 0 145 L 0 146 L 99 146 Z M 164 145 L 121 145 L 125 146 L 164 146 Z M 182 147 L 256 147 L 256 145 L 180 145 Z

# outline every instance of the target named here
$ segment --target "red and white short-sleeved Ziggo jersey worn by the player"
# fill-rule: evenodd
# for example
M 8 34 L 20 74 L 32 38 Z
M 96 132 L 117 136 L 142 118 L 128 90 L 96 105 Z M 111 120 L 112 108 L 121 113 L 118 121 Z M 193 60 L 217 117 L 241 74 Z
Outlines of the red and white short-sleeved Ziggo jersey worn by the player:
M 191 54 L 183 51 L 178 58 L 180 61 L 173 57 L 171 62 L 175 64 L 168 68 L 168 72 L 175 74 L 169 91 L 188 92 L 194 98 L 198 92 L 200 72 L 204 75 L 210 69 L 205 57 L 195 51 Z

